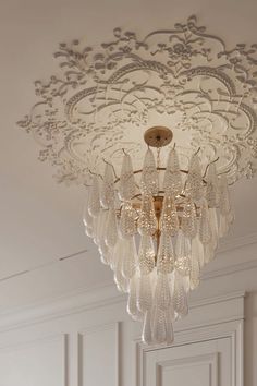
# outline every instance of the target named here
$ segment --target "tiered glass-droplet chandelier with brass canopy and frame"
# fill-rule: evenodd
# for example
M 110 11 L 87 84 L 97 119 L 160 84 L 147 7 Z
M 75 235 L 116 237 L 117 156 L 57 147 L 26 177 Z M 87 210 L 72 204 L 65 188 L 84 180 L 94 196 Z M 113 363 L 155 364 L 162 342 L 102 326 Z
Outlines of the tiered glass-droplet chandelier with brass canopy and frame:
M 201 268 L 233 220 L 227 176 L 218 176 L 217 159 L 203 165 L 198 149 L 181 170 L 172 136 L 162 126 L 145 132 L 142 170 L 133 170 L 124 149 L 119 178 L 106 161 L 103 177 L 93 176 L 84 209 L 86 234 L 113 270 L 118 289 L 128 293 L 127 312 L 143 321 L 147 345 L 173 341 L 172 324 L 187 314 L 187 293 L 199 285 Z

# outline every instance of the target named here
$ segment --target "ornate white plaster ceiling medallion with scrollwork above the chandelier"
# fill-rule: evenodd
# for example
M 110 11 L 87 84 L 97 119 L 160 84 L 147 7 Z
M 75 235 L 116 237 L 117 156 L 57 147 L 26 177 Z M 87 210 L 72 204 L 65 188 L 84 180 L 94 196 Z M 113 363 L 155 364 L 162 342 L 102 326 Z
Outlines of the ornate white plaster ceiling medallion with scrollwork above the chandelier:
M 172 129 L 184 159 L 198 147 L 206 164 L 219 157 L 230 183 L 256 173 L 257 44 L 228 48 L 191 16 L 144 38 L 115 28 L 97 47 L 63 43 L 54 58 L 59 74 L 35 82 L 38 101 L 17 124 L 59 182 L 90 184 L 103 158 L 120 167 L 121 148 L 138 169 L 152 124 Z

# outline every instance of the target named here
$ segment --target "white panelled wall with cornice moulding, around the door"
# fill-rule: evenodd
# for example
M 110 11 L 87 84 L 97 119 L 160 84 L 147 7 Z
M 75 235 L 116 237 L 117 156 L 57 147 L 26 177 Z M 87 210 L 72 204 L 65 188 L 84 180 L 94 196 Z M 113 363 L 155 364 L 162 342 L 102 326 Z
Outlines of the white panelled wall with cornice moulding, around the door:
M 231 338 L 237 377 L 232 385 L 256 386 L 257 243 L 235 246 L 205 273 L 189 315 L 175 325 L 174 345 Z M 139 335 L 140 325 L 131 322 L 113 286 L 2 314 L 0 386 L 145 385 L 144 366 L 154 359 L 138 343 Z

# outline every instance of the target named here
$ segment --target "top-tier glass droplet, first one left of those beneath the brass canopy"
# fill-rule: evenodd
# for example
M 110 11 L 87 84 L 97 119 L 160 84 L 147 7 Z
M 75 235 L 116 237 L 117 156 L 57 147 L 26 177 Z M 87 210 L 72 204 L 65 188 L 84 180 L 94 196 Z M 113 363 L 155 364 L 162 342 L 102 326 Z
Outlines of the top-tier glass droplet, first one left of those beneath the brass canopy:
M 132 159 L 125 154 L 121 167 L 121 176 L 119 183 L 119 196 L 122 201 L 130 201 L 136 192 L 135 177 L 133 173 Z

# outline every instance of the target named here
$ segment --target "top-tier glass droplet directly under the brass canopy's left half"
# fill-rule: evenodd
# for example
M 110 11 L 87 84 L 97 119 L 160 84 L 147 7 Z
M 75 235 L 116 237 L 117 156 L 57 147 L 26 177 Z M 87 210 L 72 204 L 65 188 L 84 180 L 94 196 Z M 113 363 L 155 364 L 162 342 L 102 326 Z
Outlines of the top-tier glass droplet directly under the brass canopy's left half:
M 158 172 L 156 169 L 156 160 L 150 148 L 147 149 L 140 179 L 142 194 L 157 194 L 159 190 Z

